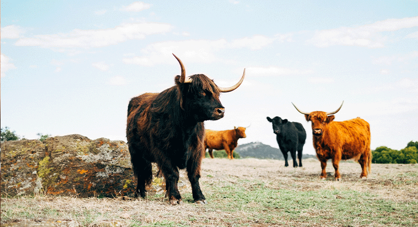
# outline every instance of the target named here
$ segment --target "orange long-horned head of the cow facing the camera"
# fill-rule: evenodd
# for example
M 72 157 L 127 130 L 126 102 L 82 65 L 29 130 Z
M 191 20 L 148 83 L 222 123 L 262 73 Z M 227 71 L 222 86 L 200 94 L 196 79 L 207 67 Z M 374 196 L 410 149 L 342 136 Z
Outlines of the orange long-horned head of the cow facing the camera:
M 293 104 L 293 103 L 292 103 Z M 339 109 L 341 109 L 341 107 L 343 106 L 343 103 L 341 104 L 341 106 L 339 106 L 339 108 L 336 111 L 333 112 L 323 112 L 323 111 L 314 111 L 314 112 L 303 112 L 300 111 L 295 104 L 293 104 L 293 106 L 296 108 L 296 110 L 299 111 L 299 113 L 304 114 L 306 121 L 311 121 L 312 122 L 312 134 L 314 136 L 321 136 L 322 133 L 324 132 L 325 128 L 327 127 L 328 123 L 332 122 L 335 118 L 334 115 L 336 112 L 339 111 Z

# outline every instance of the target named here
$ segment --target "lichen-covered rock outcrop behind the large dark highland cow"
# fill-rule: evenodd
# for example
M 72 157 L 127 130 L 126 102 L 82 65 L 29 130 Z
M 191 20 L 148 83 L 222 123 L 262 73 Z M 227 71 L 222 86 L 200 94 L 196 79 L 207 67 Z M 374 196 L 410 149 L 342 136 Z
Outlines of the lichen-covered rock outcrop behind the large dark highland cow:
M 7 196 L 45 193 L 132 197 L 136 188 L 124 141 L 90 140 L 76 134 L 50 137 L 43 142 L 2 143 L 1 174 L 1 193 Z M 154 189 L 158 190 L 161 187 Z

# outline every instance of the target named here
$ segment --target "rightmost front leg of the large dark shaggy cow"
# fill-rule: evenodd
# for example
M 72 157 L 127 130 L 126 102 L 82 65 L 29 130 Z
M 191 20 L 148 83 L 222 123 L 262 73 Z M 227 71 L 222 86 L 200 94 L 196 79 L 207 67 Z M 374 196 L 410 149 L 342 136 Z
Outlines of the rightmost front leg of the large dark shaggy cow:
M 200 164 L 201 159 L 199 159 L 199 157 L 191 157 L 191 159 L 187 162 L 187 175 L 192 186 L 192 194 L 195 202 L 198 204 L 207 204 L 206 198 L 204 197 L 199 184 Z

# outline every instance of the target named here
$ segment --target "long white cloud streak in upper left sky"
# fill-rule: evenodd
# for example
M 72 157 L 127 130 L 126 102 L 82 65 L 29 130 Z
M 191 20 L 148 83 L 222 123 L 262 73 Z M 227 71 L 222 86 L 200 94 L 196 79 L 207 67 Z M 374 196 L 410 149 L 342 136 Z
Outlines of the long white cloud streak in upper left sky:
M 67 48 L 102 47 L 131 39 L 144 39 L 147 35 L 163 34 L 171 29 L 172 26 L 166 23 L 124 23 L 111 29 L 75 29 L 66 34 L 35 35 L 30 38 L 21 38 L 15 45 L 58 48 L 57 51 L 65 52 L 68 51 Z

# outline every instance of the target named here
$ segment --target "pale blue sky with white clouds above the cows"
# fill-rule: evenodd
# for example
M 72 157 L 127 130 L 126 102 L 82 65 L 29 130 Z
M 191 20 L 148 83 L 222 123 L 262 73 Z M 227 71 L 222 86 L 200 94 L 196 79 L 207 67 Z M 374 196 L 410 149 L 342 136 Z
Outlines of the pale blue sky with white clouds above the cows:
M 418 1 L 1 1 L 1 128 L 126 141 L 129 100 L 180 67 L 218 86 L 239 144 L 278 148 L 267 116 L 370 123 L 371 148 L 418 140 Z

